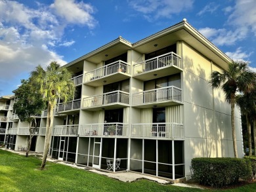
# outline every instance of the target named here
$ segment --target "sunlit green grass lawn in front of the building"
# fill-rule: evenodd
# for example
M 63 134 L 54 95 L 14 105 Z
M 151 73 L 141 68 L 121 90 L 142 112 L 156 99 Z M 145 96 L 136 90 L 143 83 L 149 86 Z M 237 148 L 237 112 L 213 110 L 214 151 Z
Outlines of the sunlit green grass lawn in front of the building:
M 46 169 L 41 171 L 40 165 L 40 159 L 0 149 L 0 191 L 203 191 L 148 180 L 119 182 L 56 163 L 47 163 Z M 227 191 L 256 191 L 256 184 Z

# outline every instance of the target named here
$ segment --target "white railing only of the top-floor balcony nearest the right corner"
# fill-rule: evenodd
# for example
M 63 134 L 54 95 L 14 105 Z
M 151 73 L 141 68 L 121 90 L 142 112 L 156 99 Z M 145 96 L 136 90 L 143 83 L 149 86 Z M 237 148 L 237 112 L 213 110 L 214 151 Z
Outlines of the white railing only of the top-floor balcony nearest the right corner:
M 162 54 L 161 56 L 135 64 L 133 66 L 133 75 L 170 66 L 176 66 L 182 69 L 181 57 L 174 52 Z

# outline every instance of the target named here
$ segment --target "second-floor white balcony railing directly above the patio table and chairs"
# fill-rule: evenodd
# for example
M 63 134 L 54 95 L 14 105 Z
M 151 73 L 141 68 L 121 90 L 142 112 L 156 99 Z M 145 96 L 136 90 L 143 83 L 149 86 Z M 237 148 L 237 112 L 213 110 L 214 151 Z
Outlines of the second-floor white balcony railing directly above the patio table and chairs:
M 79 136 L 116 136 L 128 137 L 128 124 L 125 123 L 99 123 L 81 125 Z

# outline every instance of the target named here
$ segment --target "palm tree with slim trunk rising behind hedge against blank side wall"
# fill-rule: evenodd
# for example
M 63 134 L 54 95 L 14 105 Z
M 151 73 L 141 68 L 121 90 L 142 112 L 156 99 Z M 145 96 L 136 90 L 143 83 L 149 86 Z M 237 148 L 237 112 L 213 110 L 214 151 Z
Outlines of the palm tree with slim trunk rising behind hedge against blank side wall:
M 235 96 L 236 92 L 251 92 L 256 80 L 256 73 L 251 71 L 248 67 L 248 62 L 242 60 L 230 62 L 228 69 L 219 71 L 213 71 L 211 73 L 211 80 L 209 84 L 213 88 L 219 88 L 223 90 L 226 101 L 231 106 L 231 126 L 232 126 L 232 138 L 234 147 L 234 157 L 238 157 L 238 151 L 236 147 L 236 132 L 234 126 L 234 107 L 236 104 Z

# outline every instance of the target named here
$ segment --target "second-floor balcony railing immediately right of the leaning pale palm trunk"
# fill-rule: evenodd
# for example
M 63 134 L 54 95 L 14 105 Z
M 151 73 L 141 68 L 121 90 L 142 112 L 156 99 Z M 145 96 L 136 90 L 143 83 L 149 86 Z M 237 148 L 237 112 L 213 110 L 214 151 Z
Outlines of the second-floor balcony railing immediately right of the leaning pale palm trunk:
M 77 136 L 78 125 L 56 125 L 53 136 Z

